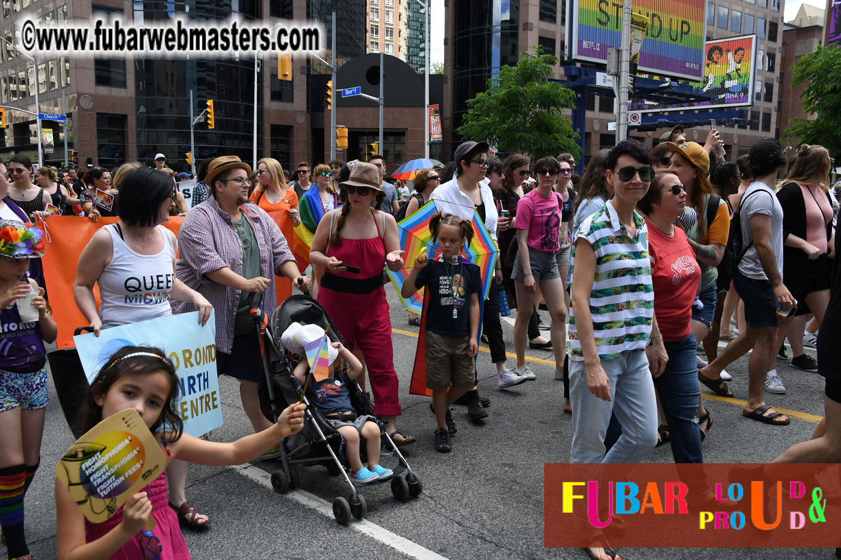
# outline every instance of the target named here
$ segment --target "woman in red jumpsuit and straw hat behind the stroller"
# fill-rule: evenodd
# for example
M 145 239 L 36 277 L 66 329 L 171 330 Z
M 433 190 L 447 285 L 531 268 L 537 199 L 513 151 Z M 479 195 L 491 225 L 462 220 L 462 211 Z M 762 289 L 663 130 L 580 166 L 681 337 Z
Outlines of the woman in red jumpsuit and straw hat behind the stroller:
M 383 287 L 383 264 L 403 267 L 397 222 L 379 210 L 385 193 L 374 165 L 361 163 L 341 183 L 347 201 L 325 213 L 315 230 L 309 259 L 325 270 L 318 301 L 339 327 L 347 348 L 358 344 L 368 366 L 374 412 L 389 424 L 396 445 L 415 442 L 397 431 L 402 413 L 394 371 L 389 302 Z M 376 207 L 371 202 L 377 199 Z M 364 312 L 362 312 L 364 310 Z

